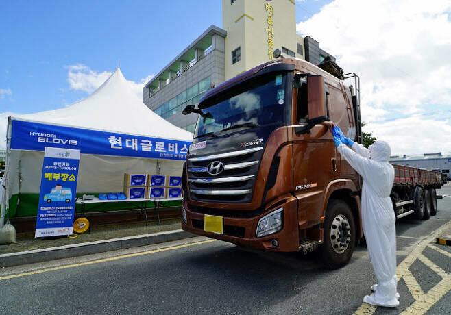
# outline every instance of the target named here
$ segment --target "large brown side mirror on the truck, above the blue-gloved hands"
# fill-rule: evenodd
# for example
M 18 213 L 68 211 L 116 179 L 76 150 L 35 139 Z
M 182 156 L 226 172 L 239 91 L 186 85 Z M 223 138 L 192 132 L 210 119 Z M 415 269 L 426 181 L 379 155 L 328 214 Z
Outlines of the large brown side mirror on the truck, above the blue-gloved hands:
M 328 121 L 326 90 L 321 75 L 307 77 L 308 123 L 317 124 Z

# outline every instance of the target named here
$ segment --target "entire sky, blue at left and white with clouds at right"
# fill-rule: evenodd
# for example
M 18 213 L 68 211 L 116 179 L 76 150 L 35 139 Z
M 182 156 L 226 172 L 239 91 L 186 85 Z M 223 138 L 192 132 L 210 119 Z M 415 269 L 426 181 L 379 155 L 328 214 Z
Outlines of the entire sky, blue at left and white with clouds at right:
M 212 24 L 222 26 L 221 5 L 3 0 L 0 122 L 11 113 L 83 99 L 119 59 L 139 95 L 149 76 L 199 34 Z M 395 154 L 451 153 L 449 0 L 296 0 L 296 23 L 299 34 L 318 40 L 345 71 L 361 76 L 365 131 L 389 141 Z M 0 138 L 4 134 L 0 123 Z

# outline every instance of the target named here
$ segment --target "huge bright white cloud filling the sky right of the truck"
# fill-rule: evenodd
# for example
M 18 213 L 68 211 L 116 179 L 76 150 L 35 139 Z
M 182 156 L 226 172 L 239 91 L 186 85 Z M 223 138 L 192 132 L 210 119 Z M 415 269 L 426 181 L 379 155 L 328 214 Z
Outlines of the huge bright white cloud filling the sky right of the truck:
M 450 12 L 447 0 L 335 0 L 296 29 L 360 75 L 362 118 L 374 122 L 367 131 L 400 154 L 451 151 L 450 121 L 416 115 L 377 123 L 451 105 Z

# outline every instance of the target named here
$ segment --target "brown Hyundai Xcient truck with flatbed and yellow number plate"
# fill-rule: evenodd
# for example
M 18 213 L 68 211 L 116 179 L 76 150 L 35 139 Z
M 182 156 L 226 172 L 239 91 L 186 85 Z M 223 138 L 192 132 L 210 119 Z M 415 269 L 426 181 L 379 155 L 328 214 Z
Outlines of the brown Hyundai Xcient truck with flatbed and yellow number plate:
M 188 105 L 183 114 L 199 118 L 183 170 L 182 229 L 267 251 L 318 251 L 328 268 L 347 264 L 363 237 L 362 179 L 323 123 L 362 143 L 359 85 L 332 60 L 280 57 Z M 395 166 L 396 216 L 434 215 L 442 184 L 438 172 Z

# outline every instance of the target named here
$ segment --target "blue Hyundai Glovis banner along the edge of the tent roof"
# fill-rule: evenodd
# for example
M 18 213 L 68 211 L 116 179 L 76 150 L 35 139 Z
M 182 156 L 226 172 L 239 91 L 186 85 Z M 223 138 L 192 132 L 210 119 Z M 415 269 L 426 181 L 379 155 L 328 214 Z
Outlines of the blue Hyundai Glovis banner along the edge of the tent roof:
M 149 122 L 151 123 L 151 122 Z M 82 154 L 185 160 L 191 142 L 114 132 L 12 121 L 11 149 L 44 151 L 45 147 L 79 149 Z

